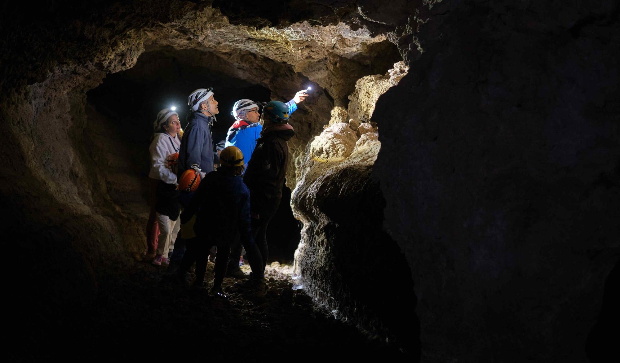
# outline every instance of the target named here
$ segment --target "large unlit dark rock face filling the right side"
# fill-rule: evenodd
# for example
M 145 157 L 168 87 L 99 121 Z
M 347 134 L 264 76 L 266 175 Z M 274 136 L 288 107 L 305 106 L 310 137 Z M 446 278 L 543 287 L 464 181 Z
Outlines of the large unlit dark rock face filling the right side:
M 620 33 L 578 4 L 435 4 L 376 105 L 429 361 L 586 360 L 619 258 Z

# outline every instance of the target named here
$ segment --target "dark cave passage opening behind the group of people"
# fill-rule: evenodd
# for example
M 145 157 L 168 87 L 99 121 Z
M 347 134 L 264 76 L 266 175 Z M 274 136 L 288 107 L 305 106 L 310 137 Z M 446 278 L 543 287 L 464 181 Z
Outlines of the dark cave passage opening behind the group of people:
M 275 63 L 267 58 L 259 61 Z M 242 98 L 262 102 L 271 99 L 272 90 L 260 75 L 253 77 L 251 71 L 237 70 L 216 53 L 158 48 L 139 56 L 132 68 L 108 74 L 98 87 L 87 92 L 86 139 L 94 159 L 101 161 L 98 167 L 113 203 L 124 211 L 145 215 L 148 149 L 153 120 L 162 108 L 176 107 L 185 127 L 188 94 L 194 89 L 215 87 L 219 114 L 212 132 L 213 142 L 217 143 L 226 138 L 234 122 L 230 115 L 234 102 Z M 97 147 L 109 145 L 110 141 L 113 147 Z M 301 224 L 291 212 L 291 190 L 286 185 L 282 194 L 283 203 L 267 231 L 268 263 L 290 264 L 299 243 Z

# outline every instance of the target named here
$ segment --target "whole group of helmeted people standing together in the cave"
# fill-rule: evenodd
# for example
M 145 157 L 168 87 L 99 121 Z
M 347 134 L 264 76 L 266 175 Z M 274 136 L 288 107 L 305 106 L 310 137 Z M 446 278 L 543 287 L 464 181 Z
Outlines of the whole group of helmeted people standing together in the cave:
M 213 87 L 197 89 L 187 98 L 191 111 L 185 130 L 173 108 L 157 113 L 149 147 L 146 260 L 178 263 L 182 280 L 195 263 L 193 284 L 203 286 L 208 255 L 216 246 L 213 294 L 227 297 L 221 288 L 224 276 L 249 277 L 241 287 L 263 281 L 267 226 L 280 205 L 289 159 L 286 142 L 294 134 L 288 120 L 306 92 L 286 103 L 264 103 L 262 111 L 262 103 L 235 102 L 235 121 L 221 150 L 211 133 L 219 113 Z M 239 269 L 242 249 L 252 269 L 249 276 Z

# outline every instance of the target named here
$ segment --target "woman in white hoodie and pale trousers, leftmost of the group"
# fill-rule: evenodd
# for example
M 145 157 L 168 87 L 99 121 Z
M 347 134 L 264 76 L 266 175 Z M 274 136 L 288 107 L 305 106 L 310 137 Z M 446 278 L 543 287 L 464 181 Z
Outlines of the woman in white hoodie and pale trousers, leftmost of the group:
M 180 131 L 182 130 L 178 113 L 170 108 L 164 108 L 157 113 L 157 118 L 153 123 L 153 141 L 149 146 L 149 152 L 151 152 L 149 178 L 151 185 L 155 186 L 154 191 L 151 191 L 151 196 L 154 195 L 154 203 L 153 198 L 151 198 L 151 203 L 154 209 L 154 219 L 159 227 L 159 236 L 162 238 L 154 240 L 154 243 L 149 241 L 148 253 L 154 255 L 153 265 L 169 263 L 169 251 L 174 249 L 174 240 L 179 233 L 178 218 L 181 207 L 177 190 L 177 175 L 168 167 L 167 157 L 179 152 Z M 149 217 L 148 230 L 152 223 Z

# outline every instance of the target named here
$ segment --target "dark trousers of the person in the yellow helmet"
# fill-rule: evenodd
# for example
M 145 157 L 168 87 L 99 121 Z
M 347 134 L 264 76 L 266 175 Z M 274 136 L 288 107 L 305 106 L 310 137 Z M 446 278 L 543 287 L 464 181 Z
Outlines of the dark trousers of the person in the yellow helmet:
M 205 281 L 206 263 L 209 257 L 209 250 L 213 246 L 218 247 L 215 258 L 215 276 L 213 278 L 213 287 L 219 287 L 224 281 L 226 274 L 226 266 L 228 265 L 228 255 L 230 254 L 230 241 L 226 240 L 209 240 L 205 237 L 194 237 L 185 240 L 187 250 L 183 255 L 179 273 L 185 274 L 196 263 L 196 281 L 194 284 L 202 284 Z M 237 261 L 238 263 L 238 261 Z

